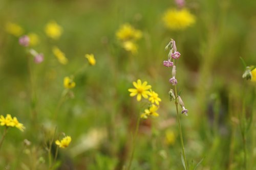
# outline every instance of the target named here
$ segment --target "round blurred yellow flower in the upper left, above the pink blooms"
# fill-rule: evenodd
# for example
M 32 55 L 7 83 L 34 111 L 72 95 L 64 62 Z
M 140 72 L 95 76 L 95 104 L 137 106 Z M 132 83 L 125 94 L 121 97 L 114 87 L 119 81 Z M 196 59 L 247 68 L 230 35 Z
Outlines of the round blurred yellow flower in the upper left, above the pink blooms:
M 46 35 L 52 39 L 59 39 L 62 34 L 62 27 L 60 27 L 55 21 L 50 21 L 45 27 Z

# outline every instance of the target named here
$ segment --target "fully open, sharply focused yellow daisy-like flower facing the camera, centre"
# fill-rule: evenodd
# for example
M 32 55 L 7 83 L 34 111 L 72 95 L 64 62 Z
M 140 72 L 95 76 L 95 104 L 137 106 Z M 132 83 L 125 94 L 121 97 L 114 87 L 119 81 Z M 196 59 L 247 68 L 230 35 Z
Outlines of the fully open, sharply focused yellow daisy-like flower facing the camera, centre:
M 151 89 L 151 85 L 147 85 L 147 82 L 143 82 L 141 84 L 141 80 L 138 79 L 137 83 L 133 82 L 133 85 L 135 88 L 130 88 L 128 89 L 128 91 L 131 92 L 130 96 L 135 96 L 137 95 L 137 101 L 141 100 L 141 96 L 143 96 L 143 98 L 147 99 L 148 98 L 148 94 L 150 93 L 150 91 L 148 91 L 149 89 Z

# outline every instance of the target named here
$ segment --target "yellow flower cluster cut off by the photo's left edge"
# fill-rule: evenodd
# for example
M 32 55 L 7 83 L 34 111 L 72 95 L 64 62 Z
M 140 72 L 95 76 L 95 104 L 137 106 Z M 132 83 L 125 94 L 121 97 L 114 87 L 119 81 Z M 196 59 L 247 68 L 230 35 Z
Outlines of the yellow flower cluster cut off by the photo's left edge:
M 7 114 L 6 117 L 3 115 L 0 116 L 0 125 L 6 127 L 16 127 L 20 131 L 24 131 L 25 127 L 23 124 L 18 122 L 16 117 L 13 117 L 10 114 Z

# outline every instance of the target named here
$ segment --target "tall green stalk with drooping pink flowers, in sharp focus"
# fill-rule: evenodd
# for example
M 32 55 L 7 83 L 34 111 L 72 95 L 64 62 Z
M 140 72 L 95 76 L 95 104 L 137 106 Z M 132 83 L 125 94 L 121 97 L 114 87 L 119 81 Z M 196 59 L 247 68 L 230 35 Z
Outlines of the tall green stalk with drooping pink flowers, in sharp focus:
M 177 92 L 178 81 L 175 78 L 175 76 L 176 76 L 175 60 L 180 58 L 180 53 L 177 52 L 177 47 L 176 47 L 175 41 L 173 39 L 171 39 L 170 42 L 166 45 L 165 50 L 168 50 L 168 48 L 170 49 L 169 54 L 168 54 L 168 60 L 164 61 L 163 65 L 166 67 L 172 67 L 172 78 L 169 79 L 169 83 L 171 83 L 173 85 L 173 88 L 171 88 L 169 91 L 169 99 L 170 99 L 170 101 L 172 101 L 172 100 L 175 101 L 177 122 L 178 122 L 179 134 L 180 134 L 180 142 L 181 142 L 181 147 L 182 147 L 182 163 L 183 163 L 185 170 L 188 170 L 183 135 L 182 135 L 181 124 L 180 124 L 180 114 L 179 114 L 178 105 L 180 105 L 182 108 L 181 113 L 184 113 L 185 115 L 187 115 L 188 110 L 185 109 L 184 103 L 183 103 L 180 95 L 178 95 L 178 92 Z

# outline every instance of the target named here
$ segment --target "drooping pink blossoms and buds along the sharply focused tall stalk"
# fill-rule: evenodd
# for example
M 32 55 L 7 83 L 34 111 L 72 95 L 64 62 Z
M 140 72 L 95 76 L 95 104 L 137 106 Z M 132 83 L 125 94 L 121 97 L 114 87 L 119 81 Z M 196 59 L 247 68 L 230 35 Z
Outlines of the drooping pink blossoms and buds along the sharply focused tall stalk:
M 168 50 L 168 48 L 170 48 L 170 51 L 168 54 L 168 60 L 164 61 L 163 65 L 167 66 L 167 67 L 171 67 L 171 66 L 173 67 L 172 68 L 172 78 L 169 79 L 169 83 L 172 84 L 173 86 L 176 86 L 178 81 L 175 78 L 175 76 L 176 76 L 175 60 L 179 59 L 181 55 L 177 51 L 176 43 L 173 39 L 171 39 L 170 42 L 165 46 L 165 51 Z M 185 115 L 187 115 L 188 110 L 185 108 L 181 97 L 179 95 L 175 96 L 173 89 L 170 89 L 170 91 L 169 91 L 169 99 L 170 99 L 170 101 L 175 100 L 177 103 L 179 103 L 182 108 L 181 113 L 184 113 Z

